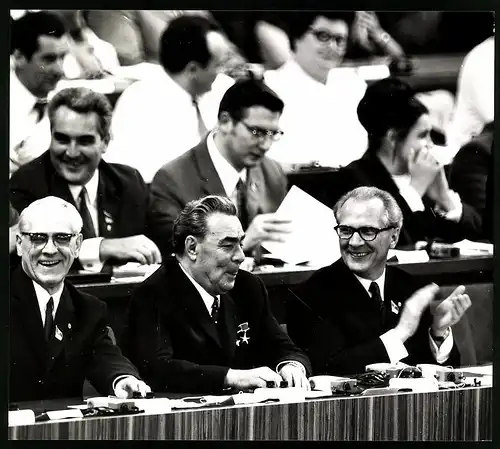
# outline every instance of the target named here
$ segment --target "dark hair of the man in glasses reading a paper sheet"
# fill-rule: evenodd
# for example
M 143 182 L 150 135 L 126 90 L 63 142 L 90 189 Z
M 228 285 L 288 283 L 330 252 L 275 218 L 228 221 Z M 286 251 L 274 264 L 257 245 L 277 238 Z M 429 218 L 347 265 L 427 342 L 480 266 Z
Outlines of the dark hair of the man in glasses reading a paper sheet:
M 234 83 L 224 94 L 219 105 L 219 115 L 227 112 L 231 118 L 240 121 L 246 109 L 252 106 L 262 106 L 271 112 L 283 112 L 283 100 L 258 79 L 245 79 Z

